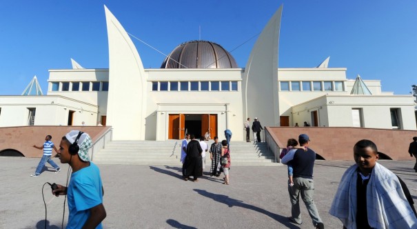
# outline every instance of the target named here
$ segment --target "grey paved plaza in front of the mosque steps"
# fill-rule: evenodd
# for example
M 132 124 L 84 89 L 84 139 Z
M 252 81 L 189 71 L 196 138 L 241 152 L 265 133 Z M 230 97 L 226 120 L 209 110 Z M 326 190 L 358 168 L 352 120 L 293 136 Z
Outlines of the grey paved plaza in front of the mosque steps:
M 58 159 L 54 159 L 59 163 Z M 65 185 L 68 165 L 30 177 L 39 159 L 0 157 L 0 228 L 45 228 L 42 186 Z M 380 161 L 407 183 L 417 199 L 414 161 Z M 59 163 L 60 164 L 60 163 Z M 316 161 L 314 200 L 326 228 L 341 228 L 327 212 L 340 177 L 353 161 Z M 49 166 L 49 165 L 48 165 Z M 286 166 L 233 166 L 230 185 L 205 175 L 181 179 L 178 166 L 99 165 L 104 186 L 104 228 L 314 228 L 301 201 L 302 225 L 289 223 Z M 206 167 L 209 169 L 209 166 Z M 207 171 L 205 171 L 206 173 Z M 63 197 L 43 189 L 48 228 L 61 228 Z M 64 227 L 68 219 L 65 203 Z

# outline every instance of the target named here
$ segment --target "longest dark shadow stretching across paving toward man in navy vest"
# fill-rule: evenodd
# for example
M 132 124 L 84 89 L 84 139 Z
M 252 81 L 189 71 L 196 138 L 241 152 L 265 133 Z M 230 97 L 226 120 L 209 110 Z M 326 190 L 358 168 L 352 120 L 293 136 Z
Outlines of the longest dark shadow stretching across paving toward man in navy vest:
M 201 189 L 194 189 L 194 191 L 196 191 L 197 193 L 199 193 L 203 197 L 208 197 L 208 198 L 213 199 L 214 201 L 217 201 L 219 203 L 227 204 L 227 206 L 229 206 L 229 208 L 232 208 L 232 207 L 236 206 L 236 207 L 241 207 L 241 208 L 247 208 L 247 209 L 250 209 L 250 210 L 254 210 L 256 212 L 267 215 L 268 217 L 271 217 L 272 219 L 275 219 L 276 221 L 282 223 L 287 228 L 298 228 L 299 229 L 298 226 L 295 226 L 294 224 L 290 223 L 287 217 L 283 217 L 282 215 L 278 215 L 278 214 L 269 212 L 265 209 L 258 208 L 256 206 L 244 203 L 243 201 L 240 201 L 238 199 L 232 199 L 230 197 L 227 197 L 226 195 L 214 194 L 212 192 L 207 192 L 206 190 L 201 190 Z

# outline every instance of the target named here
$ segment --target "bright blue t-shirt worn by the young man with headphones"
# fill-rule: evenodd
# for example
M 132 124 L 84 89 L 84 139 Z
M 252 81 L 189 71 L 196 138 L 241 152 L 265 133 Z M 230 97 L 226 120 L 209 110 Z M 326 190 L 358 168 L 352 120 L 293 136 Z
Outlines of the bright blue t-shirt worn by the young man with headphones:
M 82 228 L 90 217 L 90 208 L 103 203 L 103 189 L 99 168 L 90 161 L 90 166 L 72 172 L 68 185 L 67 228 Z M 101 223 L 96 228 L 103 228 Z

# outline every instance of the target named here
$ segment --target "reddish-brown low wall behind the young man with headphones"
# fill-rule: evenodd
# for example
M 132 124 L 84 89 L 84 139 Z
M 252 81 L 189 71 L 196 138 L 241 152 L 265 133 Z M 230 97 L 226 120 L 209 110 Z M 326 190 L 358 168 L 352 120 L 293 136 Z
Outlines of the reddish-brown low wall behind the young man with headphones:
M 59 149 L 61 138 L 70 130 L 87 132 L 92 141 L 103 135 L 111 126 L 19 126 L 0 128 L 0 152 L 3 150 L 17 150 L 25 157 L 42 157 L 43 150 L 32 147 L 42 146 L 45 136 L 51 135 L 52 142 Z M 55 153 L 55 150 L 52 150 Z

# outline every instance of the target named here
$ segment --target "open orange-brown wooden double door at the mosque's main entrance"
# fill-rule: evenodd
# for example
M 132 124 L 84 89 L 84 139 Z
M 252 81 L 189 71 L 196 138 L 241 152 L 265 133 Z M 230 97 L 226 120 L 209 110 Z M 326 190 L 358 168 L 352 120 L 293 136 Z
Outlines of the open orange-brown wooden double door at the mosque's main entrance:
M 187 117 L 192 116 L 192 121 L 187 121 Z M 190 117 L 191 119 L 191 117 Z M 217 135 L 217 115 L 199 114 L 170 114 L 168 123 L 168 139 L 183 139 L 185 130 L 194 130 L 192 132 L 196 137 L 204 136 L 206 132 L 210 137 Z

